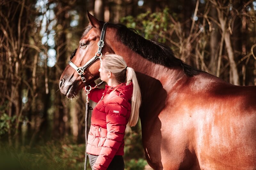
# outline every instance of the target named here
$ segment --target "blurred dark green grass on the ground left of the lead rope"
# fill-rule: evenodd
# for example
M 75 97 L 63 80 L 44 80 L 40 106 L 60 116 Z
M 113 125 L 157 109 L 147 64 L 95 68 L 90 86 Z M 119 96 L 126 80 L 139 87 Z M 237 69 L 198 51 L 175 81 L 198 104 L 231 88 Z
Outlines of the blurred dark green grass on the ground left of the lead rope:
M 34 148 L 22 146 L 19 151 L 1 145 L 0 164 L 7 169 L 83 169 L 84 151 L 84 144 L 60 144 L 54 141 Z M 87 167 L 90 170 L 89 160 Z

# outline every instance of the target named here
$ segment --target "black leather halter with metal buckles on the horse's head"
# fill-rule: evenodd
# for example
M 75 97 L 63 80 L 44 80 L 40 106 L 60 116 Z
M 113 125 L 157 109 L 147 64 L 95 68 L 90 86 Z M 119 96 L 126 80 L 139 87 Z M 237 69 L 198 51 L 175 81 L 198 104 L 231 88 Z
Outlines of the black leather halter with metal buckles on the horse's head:
M 100 40 L 99 40 L 99 42 L 98 42 L 98 51 L 95 53 L 95 55 L 94 55 L 94 57 L 92 57 L 89 61 L 87 61 L 85 64 L 84 64 L 84 66 L 83 67 L 77 67 L 72 61 L 71 61 L 71 59 L 72 59 L 72 57 L 74 57 L 75 55 L 76 55 L 76 50 L 77 49 L 75 49 L 75 51 L 71 54 L 71 57 L 70 57 L 70 60 L 68 61 L 68 64 L 71 66 L 71 67 L 73 67 L 75 70 L 76 70 L 76 72 L 81 76 L 81 80 L 83 81 L 83 82 L 86 82 L 86 79 L 85 79 L 85 77 L 84 77 L 84 70 L 87 68 L 87 67 L 89 67 L 94 61 L 96 61 L 97 59 L 100 59 L 101 60 L 101 57 L 102 57 L 102 53 L 101 53 L 101 50 L 102 50 L 102 48 L 103 48 L 103 46 L 104 46 L 104 35 L 105 35 L 105 31 L 106 31 L 106 28 L 107 28 L 107 25 L 108 25 L 108 23 L 107 22 L 105 22 L 104 23 L 104 25 L 103 25 L 103 28 L 102 28 L 102 30 L 101 30 L 101 34 L 100 34 Z

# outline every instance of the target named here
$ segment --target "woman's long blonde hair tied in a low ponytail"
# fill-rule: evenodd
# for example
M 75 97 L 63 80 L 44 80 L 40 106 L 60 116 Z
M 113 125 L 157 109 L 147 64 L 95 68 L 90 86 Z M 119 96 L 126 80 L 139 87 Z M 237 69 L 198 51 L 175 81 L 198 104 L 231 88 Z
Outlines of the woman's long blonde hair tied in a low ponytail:
M 112 74 L 115 75 L 116 81 L 118 81 L 119 83 L 126 82 L 126 85 L 129 85 L 132 81 L 132 108 L 128 124 L 130 126 L 135 126 L 139 119 L 141 94 L 134 69 L 131 67 L 127 67 L 123 57 L 116 54 L 104 55 L 102 56 L 102 61 L 103 67 L 106 69 L 106 71 L 110 71 Z

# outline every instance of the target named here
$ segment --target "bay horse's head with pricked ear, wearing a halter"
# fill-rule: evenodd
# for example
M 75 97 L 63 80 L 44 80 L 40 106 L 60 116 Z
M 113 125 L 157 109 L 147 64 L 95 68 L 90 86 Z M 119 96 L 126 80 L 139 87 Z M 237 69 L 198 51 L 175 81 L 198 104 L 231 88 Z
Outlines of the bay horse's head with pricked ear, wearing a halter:
M 104 22 L 94 18 L 89 12 L 87 13 L 90 23 L 85 28 L 77 49 L 70 57 L 71 62 L 69 61 L 69 63 L 73 64 L 67 65 L 60 76 L 60 92 L 68 98 L 75 97 L 78 91 L 85 87 L 85 84 L 88 85 L 95 79 L 99 78 L 100 59 L 96 58 L 100 58 L 101 55 L 106 53 L 113 53 L 113 50 L 108 45 L 107 40 L 107 37 L 111 36 L 111 34 L 108 35 L 108 33 L 106 33 L 104 38 L 104 47 L 102 47 L 101 53 L 97 54 L 97 50 L 99 48 L 98 42 L 100 41 L 101 30 Z M 100 46 L 102 46 L 102 44 Z M 82 68 L 88 61 L 90 62 L 95 56 L 95 61 L 86 67 L 86 69 L 77 70 L 77 68 Z M 84 77 L 83 81 L 85 83 L 81 80 L 79 73 Z

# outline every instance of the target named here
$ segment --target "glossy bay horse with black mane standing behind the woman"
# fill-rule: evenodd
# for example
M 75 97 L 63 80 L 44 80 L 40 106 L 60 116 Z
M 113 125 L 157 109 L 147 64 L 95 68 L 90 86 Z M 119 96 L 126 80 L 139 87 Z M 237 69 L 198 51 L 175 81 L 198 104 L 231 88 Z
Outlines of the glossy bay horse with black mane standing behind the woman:
M 95 56 L 104 22 L 90 24 L 72 62 Z M 236 86 L 174 57 L 172 50 L 132 29 L 108 24 L 102 54 L 116 53 L 134 68 L 140 84 L 142 143 L 153 169 L 256 169 L 256 86 Z M 99 77 L 100 60 L 88 66 L 86 84 Z M 68 98 L 84 87 L 70 65 L 60 77 Z

